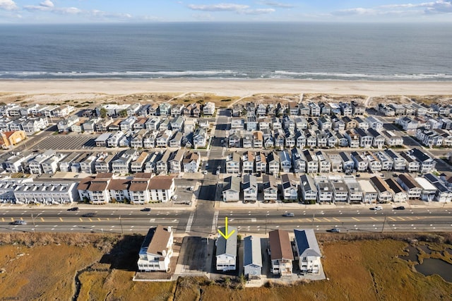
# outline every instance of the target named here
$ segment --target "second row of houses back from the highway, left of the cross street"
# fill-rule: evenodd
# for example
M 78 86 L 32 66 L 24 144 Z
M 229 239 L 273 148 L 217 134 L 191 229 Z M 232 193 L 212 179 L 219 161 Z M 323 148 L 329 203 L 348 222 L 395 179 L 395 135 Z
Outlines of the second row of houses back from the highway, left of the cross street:
M 26 172 L 35 175 L 53 175 L 61 172 L 100 173 L 114 172 L 128 174 L 148 172 L 155 174 L 198 172 L 201 155 L 195 152 L 136 151 L 127 149 L 119 153 L 44 153 L 24 152 L 12 155 L 3 163 L 6 172 Z

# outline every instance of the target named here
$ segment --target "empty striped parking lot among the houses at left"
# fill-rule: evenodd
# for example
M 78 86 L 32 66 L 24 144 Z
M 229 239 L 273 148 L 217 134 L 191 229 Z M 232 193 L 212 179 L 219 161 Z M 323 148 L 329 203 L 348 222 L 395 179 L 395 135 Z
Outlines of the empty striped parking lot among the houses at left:
M 33 146 L 33 150 L 92 150 L 98 135 L 49 136 Z

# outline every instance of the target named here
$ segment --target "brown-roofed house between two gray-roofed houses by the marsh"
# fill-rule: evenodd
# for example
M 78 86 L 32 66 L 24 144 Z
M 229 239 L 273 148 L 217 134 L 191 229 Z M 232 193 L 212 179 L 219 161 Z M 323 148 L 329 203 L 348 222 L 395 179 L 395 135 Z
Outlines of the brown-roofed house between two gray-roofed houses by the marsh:
M 289 232 L 284 230 L 273 230 L 268 233 L 270 244 L 270 271 L 279 276 L 292 276 L 292 245 L 290 244 Z

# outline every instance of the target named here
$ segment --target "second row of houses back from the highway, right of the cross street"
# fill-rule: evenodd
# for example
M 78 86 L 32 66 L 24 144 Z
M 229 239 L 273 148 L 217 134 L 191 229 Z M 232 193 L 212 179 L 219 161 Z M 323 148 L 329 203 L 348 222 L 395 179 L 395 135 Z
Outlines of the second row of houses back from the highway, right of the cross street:
M 245 151 L 234 152 L 225 159 L 226 173 L 241 174 L 263 172 L 278 175 L 279 172 L 376 172 L 395 170 L 408 172 L 432 172 L 436 161 L 418 148 L 410 151 L 340 152 L 327 154 L 325 151 L 292 148 L 270 153 Z

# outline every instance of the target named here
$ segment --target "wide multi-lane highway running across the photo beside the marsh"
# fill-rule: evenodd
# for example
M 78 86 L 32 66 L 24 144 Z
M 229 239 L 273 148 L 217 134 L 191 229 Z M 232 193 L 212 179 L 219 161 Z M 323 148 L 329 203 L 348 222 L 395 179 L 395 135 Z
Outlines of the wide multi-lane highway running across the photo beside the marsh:
M 201 209 L 201 208 L 200 208 Z M 206 208 L 206 213 L 211 208 Z M 83 214 L 93 212 L 95 216 L 87 218 Z M 212 211 L 213 212 L 213 211 Z M 407 208 L 404 211 L 383 208 L 371 211 L 369 208 L 304 209 L 291 210 L 295 216 L 283 216 L 285 210 L 222 210 L 218 220 L 203 211 L 157 210 L 142 212 L 138 209 L 66 211 L 65 209 L 6 209 L 0 213 L 0 231 L 45 231 L 45 232 L 112 232 L 141 233 L 156 225 L 172 226 L 177 234 L 184 232 L 195 236 L 207 237 L 215 234 L 216 228 L 225 224 L 239 228 L 243 235 L 265 234 L 270 230 L 293 230 L 314 228 L 325 232 L 331 228 L 340 228 L 342 232 L 415 232 L 415 231 L 451 231 L 452 210 L 449 208 Z M 196 216 L 191 218 L 192 216 Z M 187 231 L 189 219 L 196 223 Z M 13 220 L 25 220 L 27 225 L 10 225 Z M 196 222 L 195 222 L 196 220 Z M 215 226 L 215 227 L 214 227 Z

